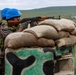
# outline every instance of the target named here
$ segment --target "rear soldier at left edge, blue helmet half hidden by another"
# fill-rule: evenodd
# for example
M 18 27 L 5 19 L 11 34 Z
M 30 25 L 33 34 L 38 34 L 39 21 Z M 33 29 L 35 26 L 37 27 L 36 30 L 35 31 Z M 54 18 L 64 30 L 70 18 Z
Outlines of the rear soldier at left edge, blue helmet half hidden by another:
M 6 36 L 6 30 L 8 29 L 6 21 L 6 13 L 10 8 L 4 8 L 1 11 L 1 20 L 0 20 L 0 74 L 4 75 L 4 38 Z

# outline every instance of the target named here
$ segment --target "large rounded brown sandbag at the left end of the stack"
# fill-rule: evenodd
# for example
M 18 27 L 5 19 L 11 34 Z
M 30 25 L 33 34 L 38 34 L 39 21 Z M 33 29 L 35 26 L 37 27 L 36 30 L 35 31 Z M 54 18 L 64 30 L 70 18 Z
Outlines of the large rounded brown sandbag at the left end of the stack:
M 37 38 L 31 33 L 15 32 L 5 39 L 5 48 L 20 48 L 37 45 Z

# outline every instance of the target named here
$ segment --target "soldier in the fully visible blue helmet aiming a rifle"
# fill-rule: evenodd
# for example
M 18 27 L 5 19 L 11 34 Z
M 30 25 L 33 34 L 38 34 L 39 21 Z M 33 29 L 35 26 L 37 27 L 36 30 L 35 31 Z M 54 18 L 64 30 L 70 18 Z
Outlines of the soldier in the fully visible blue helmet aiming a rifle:
M 6 20 L 8 23 L 8 27 L 13 32 L 19 31 L 21 32 L 26 28 L 26 23 L 21 23 L 21 12 L 18 9 L 10 9 L 6 14 Z

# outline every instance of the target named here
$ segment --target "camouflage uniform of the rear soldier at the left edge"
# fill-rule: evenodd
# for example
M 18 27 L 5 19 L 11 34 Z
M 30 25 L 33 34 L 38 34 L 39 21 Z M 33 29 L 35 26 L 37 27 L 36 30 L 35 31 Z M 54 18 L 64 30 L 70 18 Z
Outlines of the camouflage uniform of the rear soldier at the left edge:
M 0 73 L 4 75 L 4 36 L 2 35 L 4 29 L 7 29 L 7 22 L 6 20 L 0 20 Z

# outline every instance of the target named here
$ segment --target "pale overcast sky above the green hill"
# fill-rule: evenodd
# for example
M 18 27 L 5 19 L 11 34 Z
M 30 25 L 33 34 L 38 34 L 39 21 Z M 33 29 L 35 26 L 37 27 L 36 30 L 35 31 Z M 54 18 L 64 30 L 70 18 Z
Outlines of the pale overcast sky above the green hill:
M 5 7 L 29 10 L 50 6 L 76 6 L 76 0 L 0 0 L 0 10 Z

